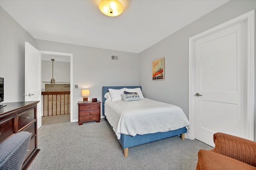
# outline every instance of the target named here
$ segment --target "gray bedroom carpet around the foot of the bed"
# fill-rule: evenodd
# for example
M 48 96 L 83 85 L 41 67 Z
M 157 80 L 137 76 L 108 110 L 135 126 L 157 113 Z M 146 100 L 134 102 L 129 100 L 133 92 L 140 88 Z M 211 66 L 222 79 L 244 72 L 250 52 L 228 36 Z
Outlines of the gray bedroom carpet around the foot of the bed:
M 179 136 L 130 147 L 128 158 L 105 119 L 58 123 L 38 129 L 38 153 L 29 170 L 194 170 L 199 149 L 212 149 Z

